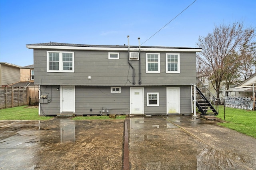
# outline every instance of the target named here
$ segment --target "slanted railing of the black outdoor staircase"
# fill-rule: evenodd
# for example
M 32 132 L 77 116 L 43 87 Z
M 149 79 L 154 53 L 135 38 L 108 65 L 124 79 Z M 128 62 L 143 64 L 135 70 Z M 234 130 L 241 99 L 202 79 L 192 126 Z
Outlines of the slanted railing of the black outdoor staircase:
M 197 83 L 196 83 L 196 87 L 202 92 L 202 94 L 204 95 L 204 97 L 210 102 L 210 104 L 212 105 L 212 107 L 214 107 L 214 109 L 219 112 L 219 105 L 220 105 L 220 99 L 217 99 L 208 89 L 207 87 L 204 85 L 204 83 L 202 83 L 202 81 L 200 81 L 198 78 L 197 79 Z M 200 100 L 198 97 L 196 97 L 196 100 Z

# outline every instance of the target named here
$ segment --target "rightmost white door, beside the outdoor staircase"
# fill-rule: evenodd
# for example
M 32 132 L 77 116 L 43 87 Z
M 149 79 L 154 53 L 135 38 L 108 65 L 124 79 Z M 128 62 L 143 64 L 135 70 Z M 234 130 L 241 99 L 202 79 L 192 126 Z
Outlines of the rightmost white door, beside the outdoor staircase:
M 167 114 L 180 113 L 180 87 L 166 87 Z

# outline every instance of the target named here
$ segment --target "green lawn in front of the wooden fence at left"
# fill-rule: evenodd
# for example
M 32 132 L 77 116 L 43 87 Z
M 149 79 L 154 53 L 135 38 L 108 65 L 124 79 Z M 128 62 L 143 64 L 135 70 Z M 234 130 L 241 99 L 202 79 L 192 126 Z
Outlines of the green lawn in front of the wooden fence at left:
M 52 117 L 39 116 L 38 108 L 28 106 L 12 107 L 0 110 L 0 120 L 49 120 Z

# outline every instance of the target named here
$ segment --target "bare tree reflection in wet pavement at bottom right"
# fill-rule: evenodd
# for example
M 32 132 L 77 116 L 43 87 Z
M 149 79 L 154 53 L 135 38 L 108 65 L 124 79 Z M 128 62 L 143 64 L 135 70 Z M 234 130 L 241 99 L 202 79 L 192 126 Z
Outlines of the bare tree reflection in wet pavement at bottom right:
M 230 158 L 227 158 L 224 154 L 218 152 L 218 150 L 215 150 L 210 146 L 204 146 L 203 149 L 200 149 L 197 152 L 197 170 L 241 168 L 236 162 L 232 161 Z

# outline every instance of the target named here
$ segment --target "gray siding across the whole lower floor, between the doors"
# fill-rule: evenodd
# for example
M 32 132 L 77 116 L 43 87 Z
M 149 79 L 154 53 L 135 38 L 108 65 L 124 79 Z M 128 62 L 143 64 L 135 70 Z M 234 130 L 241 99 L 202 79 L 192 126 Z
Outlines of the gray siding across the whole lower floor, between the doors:
M 48 94 L 48 103 L 40 103 L 40 115 L 60 114 L 60 86 L 44 86 L 40 88 L 41 95 Z M 145 86 L 144 114 L 166 115 L 166 87 L 174 86 Z M 180 114 L 191 113 L 191 86 L 180 87 Z M 147 93 L 159 93 L 159 106 L 147 106 Z M 121 93 L 110 93 L 110 87 L 75 87 L 75 114 L 100 115 L 102 107 L 108 107 L 109 114 L 130 113 L 130 87 L 122 86 Z M 92 109 L 92 111 L 90 111 Z

